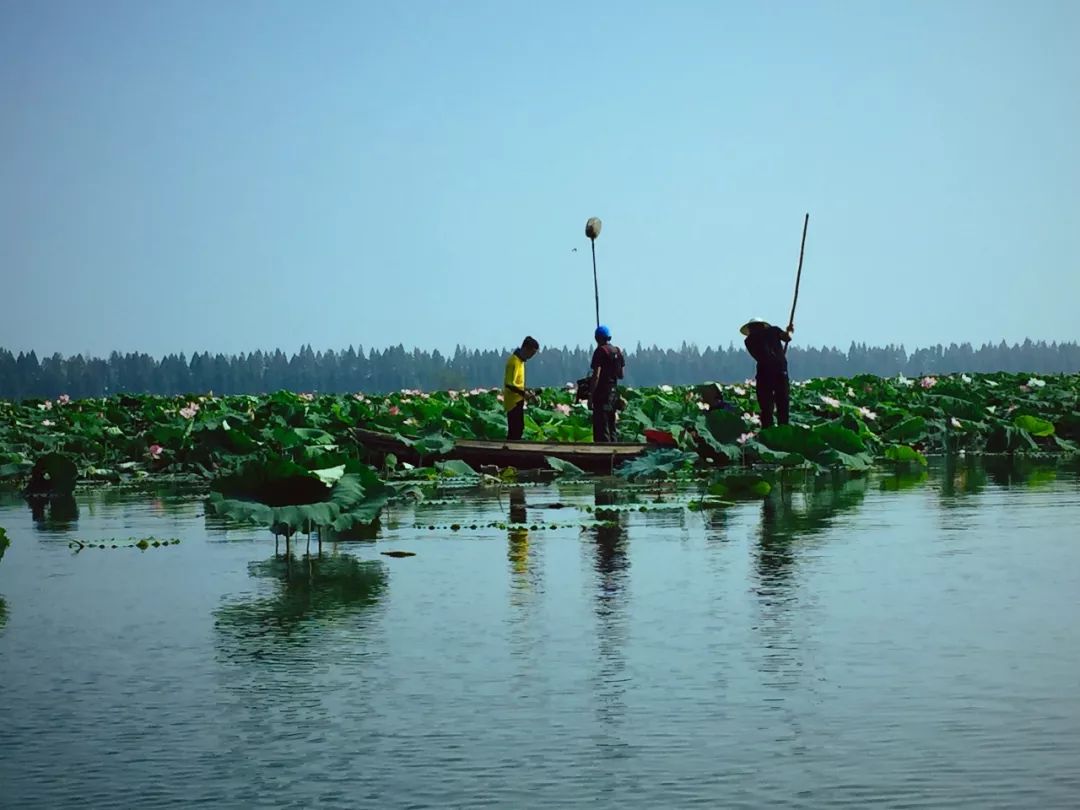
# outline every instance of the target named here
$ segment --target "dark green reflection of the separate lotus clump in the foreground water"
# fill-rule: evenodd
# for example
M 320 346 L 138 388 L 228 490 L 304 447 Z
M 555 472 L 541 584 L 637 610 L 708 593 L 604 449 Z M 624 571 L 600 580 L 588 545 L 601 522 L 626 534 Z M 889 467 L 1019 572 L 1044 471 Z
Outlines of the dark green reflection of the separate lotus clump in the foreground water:
M 327 625 L 376 605 L 388 581 L 381 562 L 346 553 L 275 554 L 251 563 L 248 575 L 274 580 L 274 593 L 214 611 L 219 643 L 229 657 L 261 658 L 306 644 Z

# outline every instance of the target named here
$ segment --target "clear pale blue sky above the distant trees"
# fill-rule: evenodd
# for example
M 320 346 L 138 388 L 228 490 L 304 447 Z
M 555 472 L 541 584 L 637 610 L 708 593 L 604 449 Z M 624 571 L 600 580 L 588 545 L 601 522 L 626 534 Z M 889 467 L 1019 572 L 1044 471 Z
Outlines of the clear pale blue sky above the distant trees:
M 1080 2 L 0 3 L 0 346 L 1080 339 Z M 577 247 L 577 253 L 572 248 Z

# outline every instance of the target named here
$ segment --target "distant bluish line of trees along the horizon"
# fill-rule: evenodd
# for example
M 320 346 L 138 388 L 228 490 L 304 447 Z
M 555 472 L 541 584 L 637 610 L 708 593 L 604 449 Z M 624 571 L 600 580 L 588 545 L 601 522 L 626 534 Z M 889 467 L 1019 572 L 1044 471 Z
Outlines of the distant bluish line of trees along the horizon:
M 287 355 L 281 349 L 240 354 L 197 352 L 156 359 L 144 352 L 108 357 L 81 354 L 38 359 L 33 351 L 14 354 L 0 349 L 0 397 L 23 400 L 107 396 L 116 393 L 219 394 L 266 393 L 287 389 L 341 393 L 384 393 L 400 389 L 494 388 L 502 384 L 509 350 L 465 349 L 453 354 L 403 346 L 365 351 L 313 351 L 305 346 Z M 581 347 L 544 347 L 528 365 L 529 386 L 563 386 L 585 375 L 592 355 Z M 851 343 L 836 348 L 792 346 L 793 379 L 850 377 L 856 374 L 916 377 L 957 372 L 1080 372 L 1080 345 L 1025 340 L 1023 343 L 951 343 L 916 349 Z M 629 386 L 686 384 L 705 380 L 738 381 L 754 374 L 754 362 L 741 345 L 706 347 L 684 343 L 678 349 L 638 345 L 626 352 Z

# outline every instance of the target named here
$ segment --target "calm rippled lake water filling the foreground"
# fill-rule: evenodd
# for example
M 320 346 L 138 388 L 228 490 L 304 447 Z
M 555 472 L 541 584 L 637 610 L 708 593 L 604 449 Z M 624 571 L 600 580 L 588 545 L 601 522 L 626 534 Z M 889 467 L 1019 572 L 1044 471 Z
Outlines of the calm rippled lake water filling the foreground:
M 447 497 L 292 562 L 198 499 L 8 497 L 0 805 L 1080 802 L 1072 472 L 961 461 L 619 528 L 581 508 L 654 495 Z M 538 528 L 427 528 L 508 516 Z M 68 548 L 146 535 L 181 542 Z

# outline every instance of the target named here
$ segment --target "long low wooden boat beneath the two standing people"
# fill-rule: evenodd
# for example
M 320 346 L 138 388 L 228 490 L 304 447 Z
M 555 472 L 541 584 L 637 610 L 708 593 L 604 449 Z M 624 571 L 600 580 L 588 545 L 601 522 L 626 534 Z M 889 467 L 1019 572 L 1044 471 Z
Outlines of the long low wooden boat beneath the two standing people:
M 649 445 L 637 442 L 611 442 L 605 444 L 578 442 L 508 442 L 458 438 L 454 447 L 434 456 L 421 455 L 409 444 L 391 433 L 356 428 L 356 441 L 369 451 L 384 456 L 394 454 L 401 461 L 419 464 L 433 460 L 457 459 L 473 467 L 495 464 L 513 467 L 518 470 L 536 470 L 548 467 L 546 457 L 569 461 L 585 472 L 610 473 L 627 459 L 640 456 Z

